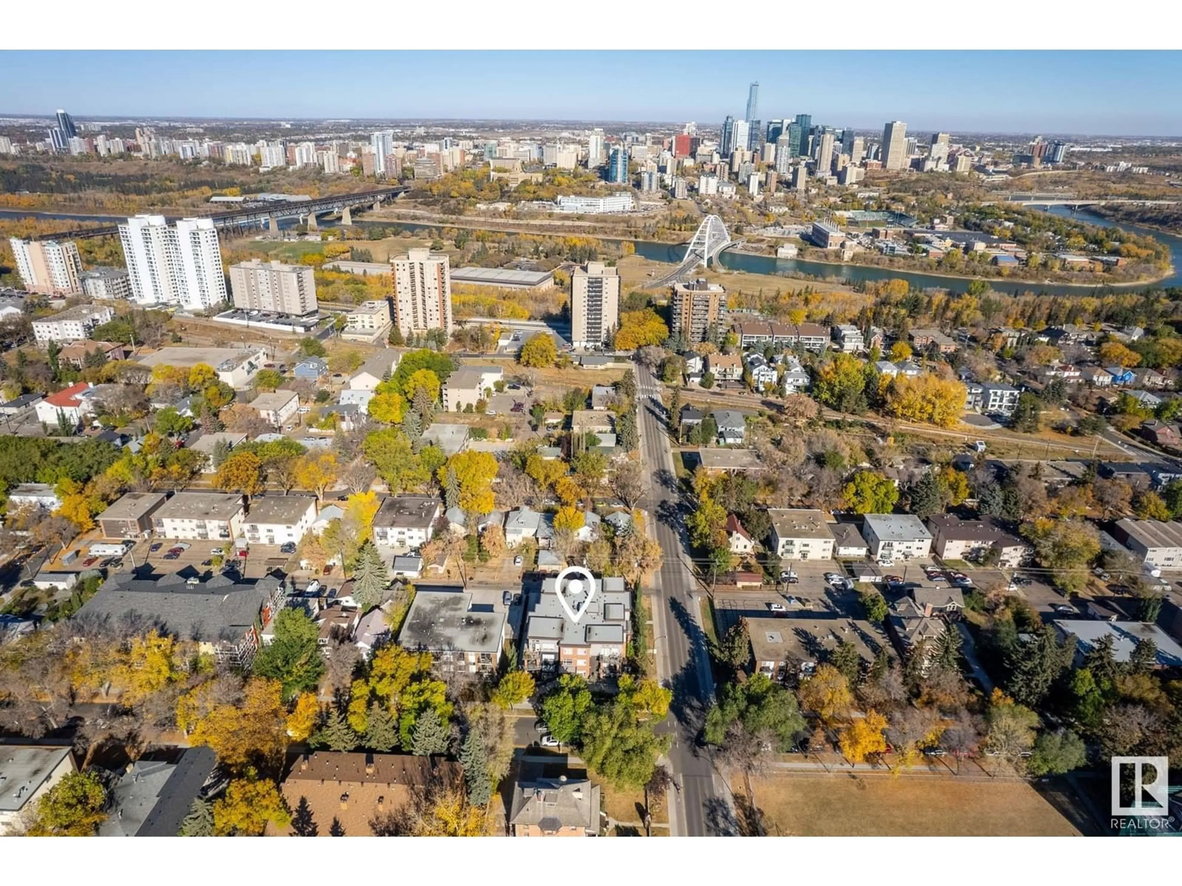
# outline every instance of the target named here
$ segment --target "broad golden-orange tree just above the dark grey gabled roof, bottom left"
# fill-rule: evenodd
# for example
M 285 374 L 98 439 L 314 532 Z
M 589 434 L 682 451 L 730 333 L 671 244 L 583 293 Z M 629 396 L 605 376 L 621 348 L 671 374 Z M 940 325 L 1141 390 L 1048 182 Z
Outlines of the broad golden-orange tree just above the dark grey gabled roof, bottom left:
M 287 747 L 287 711 L 280 680 L 249 679 L 236 704 L 208 704 L 210 683 L 181 696 L 176 719 L 189 734 L 189 744 L 207 744 L 229 767 L 243 767 L 256 758 L 274 762 Z M 194 697 L 206 690 L 206 698 Z M 195 716 L 199 715 L 199 716 Z

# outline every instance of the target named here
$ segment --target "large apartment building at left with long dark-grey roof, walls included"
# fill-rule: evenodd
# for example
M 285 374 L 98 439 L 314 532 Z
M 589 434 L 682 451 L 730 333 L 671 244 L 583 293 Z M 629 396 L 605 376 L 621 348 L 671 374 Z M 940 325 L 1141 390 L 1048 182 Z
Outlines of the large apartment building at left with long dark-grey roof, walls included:
M 87 624 L 118 623 L 135 615 L 178 640 L 193 641 L 202 654 L 249 667 L 261 632 L 282 608 L 279 579 L 234 581 L 215 575 L 190 584 L 180 573 L 137 579 L 115 573 L 78 611 Z

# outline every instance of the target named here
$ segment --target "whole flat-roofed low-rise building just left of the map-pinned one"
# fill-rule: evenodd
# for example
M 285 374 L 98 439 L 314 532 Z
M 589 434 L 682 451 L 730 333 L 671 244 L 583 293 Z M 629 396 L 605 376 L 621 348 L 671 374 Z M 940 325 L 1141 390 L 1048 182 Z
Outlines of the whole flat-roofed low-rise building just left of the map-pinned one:
M 441 676 L 495 676 L 507 615 L 499 602 L 474 604 L 459 586 L 418 587 L 398 645 L 430 652 L 431 669 Z

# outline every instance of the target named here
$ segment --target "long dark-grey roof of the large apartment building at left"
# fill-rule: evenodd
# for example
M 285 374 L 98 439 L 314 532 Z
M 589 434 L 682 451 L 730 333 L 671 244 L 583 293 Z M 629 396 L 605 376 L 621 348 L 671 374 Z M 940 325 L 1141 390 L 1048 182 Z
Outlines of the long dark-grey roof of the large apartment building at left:
M 238 641 L 259 619 L 279 587 L 273 578 L 235 584 L 217 575 L 188 585 L 180 573 L 157 580 L 116 573 L 78 610 L 74 619 L 155 625 L 182 640 Z

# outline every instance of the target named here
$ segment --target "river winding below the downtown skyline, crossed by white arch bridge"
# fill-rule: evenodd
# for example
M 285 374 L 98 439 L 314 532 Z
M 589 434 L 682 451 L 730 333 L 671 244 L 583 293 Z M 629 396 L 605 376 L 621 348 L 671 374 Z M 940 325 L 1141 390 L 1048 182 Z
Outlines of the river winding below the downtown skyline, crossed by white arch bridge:
M 1170 263 L 1174 266 L 1170 275 L 1160 282 L 1151 284 L 1156 287 L 1180 286 L 1182 287 L 1182 237 L 1174 234 L 1164 234 L 1151 228 L 1143 228 L 1139 224 L 1116 223 L 1108 219 L 1085 210 L 1072 213 L 1069 207 L 1056 206 L 1050 208 L 1034 207 L 1052 215 L 1059 215 L 1086 224 L 1100 224 L 1128 230 L 1134 234 L 1148 235 L 1169 247 Z M 102 216 L 102 215 L 72 215 L 69 213 L 39 213 L 20 209 L 0 209 L 0 219 L 66 219 L 72 221 L 89 222 L 119 222 L 126 216 Z M 280 222 L 280 227 L 296 224 L 296 219 L 287 219 Z M 335 227 L 337 222 L 322 221 L 322 228 Z M 444 228 L 442 223 L 427 222 L 383 222 L 358 220 L 355 224 L 359 227 L 379 226 L 387 228 L 401 228 L 403 230 L 416 230 L 422 228 Z M 599 237 L 606 242 L 621 242 L 611 237 Z M 655 243 L 645 240 L 632 241 L 636 246 L 636 254 L 651 261 L 662 261 L 676 265 L 686 254 L 684 245 Z M 891 268 L 875 268 L 862 265 L 830 265 L 823 261 L 807 261 L 803 259 L 775 259 L 768 255 L 746 255 L 743 253 L 722 253 L 720 261 L 728 271 L 741 271 L 748 274 L 805 274 L 807 276 L 823 278 L 827 280 L 843 280 L 845 282 L 868 282 L 878 280 L 907 280 L 911 288 L 929 289 L 941 288 L 952 292 L 965 292 L 970 280 L 966 278 L 941 276 L 939 274 L 924 274 L 916 271 L 894 271 Z M 1138 288 L 1148 287 L 1147 284 L 1126 284 L 1124 286 L 1067 286 L 1064 284 L 1035 284 L 1026 280 L 991 279 L 989 287 L 996 292 L 1022 293 L 1033 292 L 1039 295 L 1091 295 L 1102 292 L 1136 292 Z

